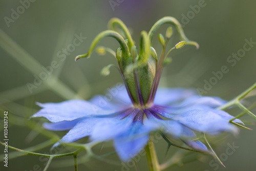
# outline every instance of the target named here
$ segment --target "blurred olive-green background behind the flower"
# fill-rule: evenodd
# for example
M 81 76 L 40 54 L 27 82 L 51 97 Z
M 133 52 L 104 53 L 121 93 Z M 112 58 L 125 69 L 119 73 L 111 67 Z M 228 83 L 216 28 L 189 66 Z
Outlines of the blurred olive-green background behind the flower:
M 199 50 L 187 46 L 172 54 L 173 62 L 164 70 L 161 86 L 203 88 L 204 80 L 209 80 L 213 76 L 213 71 L 220 71 L 222 66 L 227 66 L 229 72 L 204 95 L 219 96 L 229 100 L 256 81 L 256 47 L 246 52 L 233 67 L 227 62 L 228 56 L 243 48 L 245 39 L 252 38 L 252 41 L 256 41 L 256 1 L 205 0 L 205 6 L 197 12 L 193 12 L 191 6 L 194 7 L 202 2 L 199 0 L 119 2 L 112 8 L 110 1 L 37 0 L 31 2 L 30 6 L 9 24 L 6 23 L 6 17 L 11 18 L 12 9 L 17 11 L 22 4 L 13 0 L 0 2 L 0 108 L 1 115 L 4 115 L 5 110 L 9 111 L 10 145 L 23 149 L 48 139 L 33 129 L 36 124 L 41 124 L 41 120 L 33 120 L 35 125 L 27 123 L 28 118 L 39 110 L 35 105 L 36 101 L 90 99 L 95 94 L 104 94 L 106 89 L 122 81 L 115 70 L 111 70 L 111 74 L 107 77 L 100 75 L 100 70 L 104 66 L 116 62 L 111 55 L 99 56 L 94 53 L 90 59 L 74 61 L 76 55 L 87 52 L 97 33 L 107 29 L 106 25 L 112 17 L 123 20 L 131 29 L 137 45 L 140 32 L 149 31 L 163 16 L 176 17 L 183 24 L 187 37 L 200 44 Z M 166 28 L 167 26 L 164 26 L 159 33 L 164 34 Z M 64 61 L 61 61 L 57 53 L 72 44 L 75 34 L 81 34 L 86 39 L 80 46 L 75 47 L 73 52 L 66 55 Z M 176 40 L 177 36 L 174 36 L 173 44 L 177 42 Z M 114 50 L 118 48 L 117 42 L 112 38 L 102 40 L 100 45 Z M 160 45 L 156 37 L 154 45 L 159 53 Z M 41 66 L 48 67 L 53 60 L 57 61 L 57 69 L 54 69 L 51 78 L 49 76 L 31 93 L 27 83 L 33 83 L 34 75 L 40 73 Z M 238 109 L 233 112 L 233 114 L 238 113 Z M 0 125 L 2 141 L 2 121 Z M 252 129 L 256 128 L 255 125 L 248 126 Z M 60 137 L 64 134 L 64 132 L 57 133 Z M 241 134 L 237 137 L 226 137 L 226 142 L 215 148 L 217 154 L 225 153 L 227 143 L 233 142 L 239 148 L 224 161 L 226 168 L 221 165 L 218 168 L 216 165 L 210 166 L 209 162 L 213 158 L 205 156 L 200 158 L 200 161 L 181 164 L 167 170 L 255 170 L 255 131 L 241 130 Z M 162 162 L 167 144 L 161 140 L 156 146 L 159 160 Z M 0 154 L 3 154 L 2 146 L 0 149 Z M 97 148 L 95 150 L 98 151 Z M 101 153 L 111 150 L 112 147 L 107 146 Z M 172 155 L 172 150 L 174 148 L 171 149 L 169 156 Z M 9 151 L 11 152 L 12 150 Z M 49 148 L 40 152 L 49 153 Z M 113 158 L 118 161 L 116 156 Z M 49 170 L 73 170 L 72 165 L 67 166 L 68 160 L 72 160 L 72 157 L 54 160 Z M 0 168 L 1 170 L 42 170 L 44 164 L 45 160 L 37 156 L 23 156 L 9 160 L 8 169 L 1 162 Z M 79 170 L 121 170 L 121 166 L 110 165 L 96 159 L 79 164 L 78 168 Z M 142 158 L 135 167 L 129 168 L 129 170 L 146 169 L 145 158 Z

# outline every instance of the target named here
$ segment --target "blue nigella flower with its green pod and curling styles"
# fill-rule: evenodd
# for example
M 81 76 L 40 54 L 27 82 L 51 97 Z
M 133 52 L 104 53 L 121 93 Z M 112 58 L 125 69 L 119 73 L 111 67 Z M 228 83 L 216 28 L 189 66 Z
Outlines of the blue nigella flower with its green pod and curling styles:
M 180 42 L 167 53 L 166 45 L 172 36 L 172 28 L 166 31 L 166 38 L 161 34 L 159 41 L 163 46 L 160 57 L 152 47 L 153 36 L 163 24 L 173 24 L 180 36 Z M 44 127 L 53 131 L 70 130 L 55 144 L 70 143 L 83 137 L 91 141 L 113 140 L 117 154 L 122 161 L 128 161 L 146 145 L 150 133 L 161 130 L 164 135 L 180 139 L 186 145 L 200 152 L 208 148 L 196 133 L 219 134 L 236 132 L 237 127 L 229 122 L 233 116 L 218 110 L 226 103 L 218 97 L 202 97 L 190 89 L 159 88 L 159 81 L 167 55 L 184 45 L 198 44 L 186 38 L 181 25 L 173 17 L 160 19 L 147 34 L 141 32 L 139 54 L 137 47 L 126 26 L 121 20 L 110 20 L 111 30 L 103 31 L 94 39 L 89 52 L 76 57 L 90 57 L 97 42 L 106 36 L 118 40 L 120 48 L 116 53 L 109 48 L 99 48 L 101 54 L 115 54 L 124 85 L 115 88 L 112 100 L 95 96 L 90 101 L 69 100 L 60 103 L 38 103 L 42 108 L 32 117 L 45 117 L 52 123 Z M 122 36 L 121 36 L 122 35 Z M 109 65 L 103 74 L 109 74 Z M 117 91 L 118 90 L 118 91 Z M 239 119 L 233 122 L 242 123 Z

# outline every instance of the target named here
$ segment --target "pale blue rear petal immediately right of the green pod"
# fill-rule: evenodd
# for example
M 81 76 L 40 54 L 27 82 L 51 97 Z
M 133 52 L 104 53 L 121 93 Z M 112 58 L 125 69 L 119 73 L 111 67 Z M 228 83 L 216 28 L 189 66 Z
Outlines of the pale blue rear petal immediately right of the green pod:
M 170 103 L 178 102 L 188 98 L 190 96 L 196 95 L 196 91 L 192 89 L 168 89 L 159 88 L 154 99 L 154 104 L 167 105 Z

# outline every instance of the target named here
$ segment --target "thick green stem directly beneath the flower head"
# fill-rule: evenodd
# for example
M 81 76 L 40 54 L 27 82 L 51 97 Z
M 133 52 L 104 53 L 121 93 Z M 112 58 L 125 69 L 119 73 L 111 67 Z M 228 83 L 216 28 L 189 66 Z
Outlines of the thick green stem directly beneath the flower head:
M 160 171 L 155 146 L 153 141 L 150 139 L 145 147 L 146 158 L 150 171 Z

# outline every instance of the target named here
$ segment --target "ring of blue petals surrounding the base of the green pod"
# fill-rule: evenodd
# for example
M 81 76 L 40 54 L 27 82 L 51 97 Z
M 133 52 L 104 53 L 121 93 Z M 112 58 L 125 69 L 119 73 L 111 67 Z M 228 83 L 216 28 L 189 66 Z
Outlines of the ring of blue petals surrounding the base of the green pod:
M 225 101 L 215 97 L 199 97 L 193 90 L 159 89 L 154 104 L 144 109 L 132 104 L 124 86 L 113 100 L 104 101 L 106 109 L 99 107 L 103 99 L 100 97 L 95 96 L 91 101 L 76 99 L 38 103 L 42 109 L 33 117 L 45 117 L 51 121 L 44 123 L 48 130 L 70 130 L 60 140 L 64 143 L 86 136 L 97 141 L 113 140 L 123 161 L 138 154 L 153 131 L 161 130 L 204 152 L 208 151 L 207 147 L 198 140 L 193 141 L 196 138 L 194 131 L 208 134 L 238 131 L 229 123 L 233 118 L 231 115 L 215 109 Z M 241 123 L 239 119 L 234 121 Z

